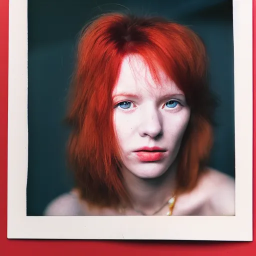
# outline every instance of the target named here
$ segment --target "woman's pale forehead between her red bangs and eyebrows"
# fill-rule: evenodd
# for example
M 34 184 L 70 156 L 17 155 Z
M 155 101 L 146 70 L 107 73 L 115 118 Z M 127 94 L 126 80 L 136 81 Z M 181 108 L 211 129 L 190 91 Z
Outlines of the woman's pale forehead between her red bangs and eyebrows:
M 146 65 L 138 55 L 128 55 L 121 63 L 120 74 L 113 94 L 117 93 L 146 93 L 160 95 L 162 93 L 182 93 L 177 85 L 160 69 L 156 81 Z

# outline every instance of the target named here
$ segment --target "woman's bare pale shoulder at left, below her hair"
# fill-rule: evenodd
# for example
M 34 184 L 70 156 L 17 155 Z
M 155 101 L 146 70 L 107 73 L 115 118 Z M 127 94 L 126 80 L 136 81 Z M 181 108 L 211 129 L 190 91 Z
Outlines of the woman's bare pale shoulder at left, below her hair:
M 53 199 L 45 208 L 45 216 L 75 216 L 82 215 L 80 202 L 72 191 L 63 193 Z

